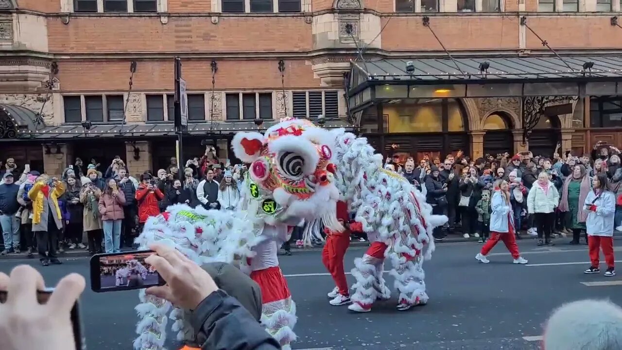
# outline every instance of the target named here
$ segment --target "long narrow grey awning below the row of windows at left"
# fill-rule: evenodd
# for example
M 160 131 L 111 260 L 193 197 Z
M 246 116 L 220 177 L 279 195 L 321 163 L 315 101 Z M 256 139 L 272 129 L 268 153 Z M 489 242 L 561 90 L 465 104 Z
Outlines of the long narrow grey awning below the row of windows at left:
M 270 126 L 278 123 L 274 120 L 266 120 L 261 126 L 266 130 Z M 326 120 L 325 128 L 348 128 L 348 122 L 343 119 Z M 188 133 L 190 136 L 202 135 L 231 135 L 238 131 L 256 131 L 257 125 L 253 121 L 214 121 L 203 123 L 188 123 Z M 141 125 L 114 125 L 114 124 L 95 124 L 90 130 L 86 130 L 81 125 L 60 125 L 47 126 L 39 131 L 24 131 L 20 138 L 24 140 L 70 140 L 75 138 L 145 138 L 154 136 L 175 136 L 173 123 L 141 124 Z

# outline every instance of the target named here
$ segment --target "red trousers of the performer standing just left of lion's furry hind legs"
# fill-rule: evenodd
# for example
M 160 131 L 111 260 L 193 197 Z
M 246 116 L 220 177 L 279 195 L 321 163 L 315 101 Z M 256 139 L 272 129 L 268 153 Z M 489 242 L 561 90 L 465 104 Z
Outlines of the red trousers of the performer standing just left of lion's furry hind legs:
M 343 271 L 343 257 L 350 246 L 350 232 L 328 235 L 322 250 L 322 263 L 330 272 L 339 289 L 339 294 L 350 296 L 348 281 Z

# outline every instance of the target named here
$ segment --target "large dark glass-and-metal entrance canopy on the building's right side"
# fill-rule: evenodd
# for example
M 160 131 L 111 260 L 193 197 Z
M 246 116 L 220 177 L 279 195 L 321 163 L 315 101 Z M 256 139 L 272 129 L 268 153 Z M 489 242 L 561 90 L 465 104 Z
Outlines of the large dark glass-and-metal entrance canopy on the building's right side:
M 356 113 L 383 99 L 622 95 L 621 78 L 618 56 L 353 62 L 348 106 Z

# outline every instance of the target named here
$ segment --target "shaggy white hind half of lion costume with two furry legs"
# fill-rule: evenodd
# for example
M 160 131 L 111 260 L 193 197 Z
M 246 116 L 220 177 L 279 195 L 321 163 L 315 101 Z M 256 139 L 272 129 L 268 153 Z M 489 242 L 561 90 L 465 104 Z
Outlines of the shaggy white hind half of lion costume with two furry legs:
M 383 169 L 382 156 L 374 154 L 366 139 L 336 133 L 337 184 L 372 242 L 363 258 L 355 259 L 355 293 L 348 309 L 368 312 L 376 299 L 390 297 L 383 278 L 386 259 L 391 262 L 389 273 L 399 291 L 397 310 L 424 305 L 428 296 L 423 261 L 434 252 L 432 229 L 445 224 L 447 217 L 432 215 L 432 207 L 414 186 Z

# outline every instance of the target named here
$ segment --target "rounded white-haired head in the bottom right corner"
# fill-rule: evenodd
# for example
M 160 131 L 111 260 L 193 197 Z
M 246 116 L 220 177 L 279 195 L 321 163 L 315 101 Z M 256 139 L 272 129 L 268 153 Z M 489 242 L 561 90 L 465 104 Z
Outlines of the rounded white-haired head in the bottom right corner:
M 544 350 L 622 349 L 622 308 L 579 300 L 555 310 L 544 329 Z

